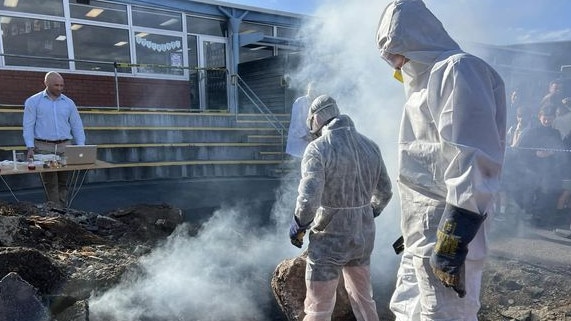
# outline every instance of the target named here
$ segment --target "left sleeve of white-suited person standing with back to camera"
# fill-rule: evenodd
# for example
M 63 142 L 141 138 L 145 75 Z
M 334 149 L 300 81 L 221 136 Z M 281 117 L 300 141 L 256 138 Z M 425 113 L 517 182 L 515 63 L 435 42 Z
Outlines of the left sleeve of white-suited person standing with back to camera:
M 300 225 L 310 224 L 321 204 L 321 196 L 325 185 L 322 155 L 315 144 L 309 144 L 301 161 L 301 181 L 298 187 L 298 197 L 295 216 Z

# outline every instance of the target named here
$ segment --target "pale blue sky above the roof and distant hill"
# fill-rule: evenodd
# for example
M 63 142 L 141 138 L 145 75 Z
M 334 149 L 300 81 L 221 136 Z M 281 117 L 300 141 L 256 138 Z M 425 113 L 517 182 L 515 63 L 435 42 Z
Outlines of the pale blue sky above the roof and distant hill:
M 345 0 L 224 1 L 315 16 L 323 16 L 320 10 L 323 7 L 341 7 L 345 2 Z M 384 8 L 388 1 L 366 3 L 366 7 Z M 426 0 L 425 3 L 444 23 L 452 36 L 458 34 L 456 28 L 473 26 L 470 33 L 471 40 L 476 42 L 486 40 L 488 44 L 494 45 L 571 40 L 569 19 L 571 1 L 568 0 Z

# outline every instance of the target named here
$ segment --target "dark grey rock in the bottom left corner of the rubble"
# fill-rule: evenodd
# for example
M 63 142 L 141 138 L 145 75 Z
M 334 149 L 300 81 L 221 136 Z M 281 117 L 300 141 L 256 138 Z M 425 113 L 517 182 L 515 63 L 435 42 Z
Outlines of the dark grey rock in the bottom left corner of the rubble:
M 0 281 L 0 321 L 15 320 L 49 321 L 50 313 L 37 289 L 11 272 Z

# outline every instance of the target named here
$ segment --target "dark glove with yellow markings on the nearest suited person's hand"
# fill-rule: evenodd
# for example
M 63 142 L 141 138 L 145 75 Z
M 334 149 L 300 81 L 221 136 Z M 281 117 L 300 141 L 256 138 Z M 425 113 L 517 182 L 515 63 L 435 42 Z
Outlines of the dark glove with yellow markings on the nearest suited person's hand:
M 430 266 L 442 284 L 451 287 L 461 298 L 466 295 L 464 261 L 468 255 L 468 244 L 485 219 L 485 214 L 446 204 L 438 225 Z

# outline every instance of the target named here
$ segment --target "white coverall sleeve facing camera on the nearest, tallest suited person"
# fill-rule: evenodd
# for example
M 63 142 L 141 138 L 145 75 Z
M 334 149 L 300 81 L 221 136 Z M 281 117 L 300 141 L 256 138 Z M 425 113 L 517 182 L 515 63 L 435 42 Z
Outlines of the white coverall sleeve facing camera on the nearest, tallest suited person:
M 434 67 L 428 87 L 428 106 L 435 115 L 448 164 L 446 202 L 484 214 L 500 188 L 506 130 L 504 85 L 477 57 L 449 59 L 452 62 Z

